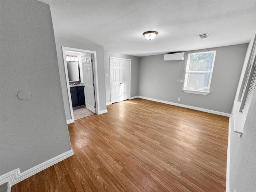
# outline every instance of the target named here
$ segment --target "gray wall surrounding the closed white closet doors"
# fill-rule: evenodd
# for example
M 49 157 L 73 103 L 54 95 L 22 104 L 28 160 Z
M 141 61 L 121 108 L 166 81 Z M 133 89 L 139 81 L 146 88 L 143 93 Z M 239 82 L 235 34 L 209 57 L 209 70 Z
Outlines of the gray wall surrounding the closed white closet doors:
M 136 56 L 104 52 L 105 62 L 105 83 L 106 83 L 106 102 L 110 102 L 110 64 L 109 57 L 131 59 L 131 97 L 138 96 L 138 78 L 140 58 Z M 106 73 L 108 76 L 106 77 Z

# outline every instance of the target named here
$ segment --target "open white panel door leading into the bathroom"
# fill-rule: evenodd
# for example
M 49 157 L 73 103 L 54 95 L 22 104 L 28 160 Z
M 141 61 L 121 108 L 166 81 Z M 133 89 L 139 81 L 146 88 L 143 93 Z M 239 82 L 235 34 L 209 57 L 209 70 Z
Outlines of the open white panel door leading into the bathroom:
M 95 113 L 96 110 L 95 110 L 94 80 L 93 80 L 91 54 L 82 56 L 82 69 L 83 69 L 83 78 L 84 78 L 85 107 L 91 112 Z

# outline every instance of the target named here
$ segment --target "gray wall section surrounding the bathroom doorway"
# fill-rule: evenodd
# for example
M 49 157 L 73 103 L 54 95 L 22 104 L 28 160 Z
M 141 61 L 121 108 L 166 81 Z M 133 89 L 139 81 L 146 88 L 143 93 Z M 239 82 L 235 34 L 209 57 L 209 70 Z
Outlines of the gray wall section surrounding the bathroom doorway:
M 58 64 L 60 70 L 60 81 L 61 81 L 61 88 L 64 100 L 64 107 L 66 113 L 66 120 L 71 119 L 70 114 L 70 106 L 68 101 L 68 89 L 66 85 L 66 76 L 64 70 L 64 61 L 62 56 L 62 46 L 64 47 L 71 47 L 77 49 L 84 49 L 90 51 L 96 51 L 97 56 L 97 70 L 98 70 L 98 95 L 99 95 L 99 102 L 100 102 L 100 111 L 106 110 L 106 91 L 105 91 L 105 78 L 104 78 L 104 49 L 102 46 L 86 44 L 81 42 L 74 42 L 71 40 L 66 40 L 62 38 L 55 38 L 56 41 L 56 50 L 58 55 Z

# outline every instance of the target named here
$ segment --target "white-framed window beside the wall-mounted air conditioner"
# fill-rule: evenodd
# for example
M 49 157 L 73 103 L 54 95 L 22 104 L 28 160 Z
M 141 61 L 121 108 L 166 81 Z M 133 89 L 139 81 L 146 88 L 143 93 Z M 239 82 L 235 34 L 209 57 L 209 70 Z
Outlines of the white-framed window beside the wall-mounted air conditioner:
M 210 93 L 215 54 L 216 50 L 188 54 L 184 92 Z

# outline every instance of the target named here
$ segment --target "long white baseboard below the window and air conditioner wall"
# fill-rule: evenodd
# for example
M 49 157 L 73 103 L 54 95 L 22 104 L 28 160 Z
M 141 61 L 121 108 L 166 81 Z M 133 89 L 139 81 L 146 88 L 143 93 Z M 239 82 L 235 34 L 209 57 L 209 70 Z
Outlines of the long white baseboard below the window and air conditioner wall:
M 222 115 L 222 116 L 226 116 L 226 117 L 229 117 L 229 116 L 230 116 L 229 113 L 224 113 L 224 112 L 219 112 L 219 111 L 213 111 L 213 110 L 209 110 L 209 109 L 204 109 L 204 108 L 199 108 L 199 107 L 194 107 L 194 106 L 189 106 L 189 105 L 183 105 L 183 104 L 173 103 L 173 102 L 169 102 L 169 101 L 163 101 L 163 100 L 158 100 L 158 99 L 152 99 L 152 98 L 142 97 L 142 96 L 138 96 L 138 98 L 146 99 L 146 100 L 151 100 L 151 101 L 156 101 L 156 102 L 165 103 L 165 104 L 174 105 L 174 106 L 179 106 L 179 107 L 184 107 L 184 108 L 188 108 L 188 109 L 194 109 L 194 110 L 198 110 L 198 111 L 202 111 L 202 112 L 207 112 L 207 113 Z

